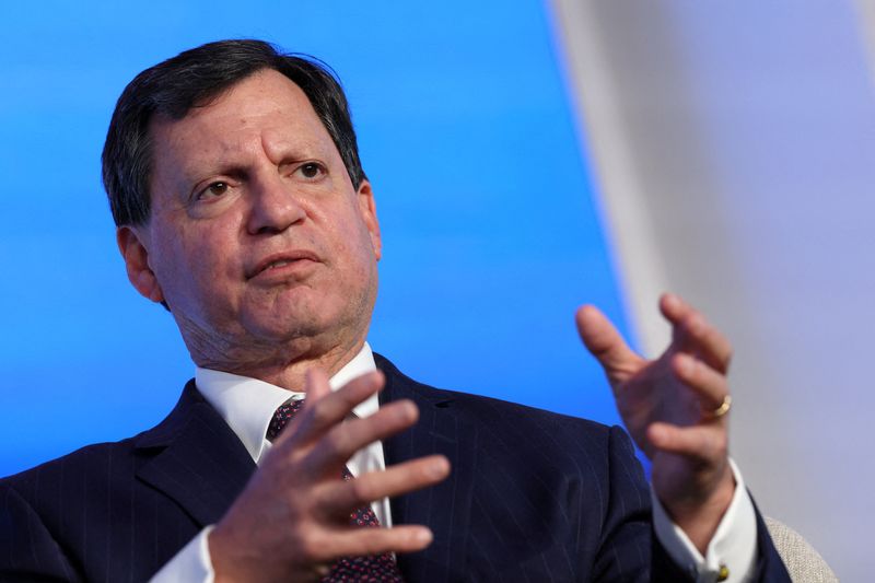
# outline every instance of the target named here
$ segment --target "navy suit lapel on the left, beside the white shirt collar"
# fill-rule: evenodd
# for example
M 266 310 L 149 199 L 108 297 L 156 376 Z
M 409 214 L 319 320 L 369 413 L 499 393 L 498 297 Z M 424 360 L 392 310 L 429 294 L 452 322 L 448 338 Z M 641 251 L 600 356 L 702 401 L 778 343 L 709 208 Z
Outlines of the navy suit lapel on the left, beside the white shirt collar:
M 136 446 L 154 452 L 139 479 L 176 501 L 200 526 L 214 524 L 246 486 L 255 463 L 190 381 L 179 403 Z

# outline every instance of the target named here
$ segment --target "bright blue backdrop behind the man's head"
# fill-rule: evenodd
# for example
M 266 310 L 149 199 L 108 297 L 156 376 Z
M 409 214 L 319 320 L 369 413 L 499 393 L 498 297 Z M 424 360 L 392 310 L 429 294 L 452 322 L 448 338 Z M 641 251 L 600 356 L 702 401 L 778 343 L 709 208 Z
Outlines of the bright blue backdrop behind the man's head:
M 40 2 L 3 23 L 0 475 L 151 427 L 191 376 L 127 281 L 100 152 L 137 72 L 228 37 L 318 56 L 348 91 L 384 234 L 376 351 L 617 421 L 573 312 L 628 326 L 540 2 Z

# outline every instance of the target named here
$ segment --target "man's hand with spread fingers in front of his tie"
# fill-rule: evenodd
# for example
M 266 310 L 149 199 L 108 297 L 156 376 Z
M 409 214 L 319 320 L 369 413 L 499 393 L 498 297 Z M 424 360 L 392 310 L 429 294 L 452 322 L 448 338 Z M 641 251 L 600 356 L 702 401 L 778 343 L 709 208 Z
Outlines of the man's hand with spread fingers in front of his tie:
M 308 373 L 304 407 L 210 534 L 217 582 L 315 581 L 340 557 L 409 552 L 431 543 L 424 526 L 349 524 L 354 509 L 431 486 L 450 473 L 445 457 L 429 456 L 354 480 L 340 478 L 352 454 L 418 419 L 416 405 L 401 400 L 365 419 L 345 421 L 383 383 L 375 372 L 331 393 L 324 373 Z

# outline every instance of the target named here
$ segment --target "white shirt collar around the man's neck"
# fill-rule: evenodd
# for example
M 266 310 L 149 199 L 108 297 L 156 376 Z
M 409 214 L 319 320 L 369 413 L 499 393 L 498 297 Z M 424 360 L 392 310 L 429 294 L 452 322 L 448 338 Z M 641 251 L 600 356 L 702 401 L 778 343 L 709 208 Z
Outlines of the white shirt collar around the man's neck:
M 328 383 L 331 390 L 337 390 L 357 376 L 375 370 L 374 354 L 365 342 L 359 353 L 343 365 Z M 273 417 L 273 411 L 290 398 L 302 399 L 306 395 L 306 393 L 288 390 L 257 378 L 200 366 L 195 370 L 195 383 L 203 398 L 219 411 L 222 419 L 237 434 L 256 463 L 261 459 L 270 446 L 265 434 Z M 375 413 L 378 407 L 377 396 L 371 395 L 352 412 L 357 417 L 368 417 Z

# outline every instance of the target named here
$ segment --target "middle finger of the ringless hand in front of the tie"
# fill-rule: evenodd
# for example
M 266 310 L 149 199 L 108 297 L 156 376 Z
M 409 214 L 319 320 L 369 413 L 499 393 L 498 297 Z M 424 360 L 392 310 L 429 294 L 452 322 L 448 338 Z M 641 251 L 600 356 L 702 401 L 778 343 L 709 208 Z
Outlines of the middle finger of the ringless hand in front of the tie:
M 304 458 L 304 467 L 317 475 L 337 473 L 349 458 L 370 443 L 382 441 L 413 425 L 419 409 L 413 401 L 402 399 L 381 407 L 364 419 L 353 419 L 335 425 L 316 443 Z

